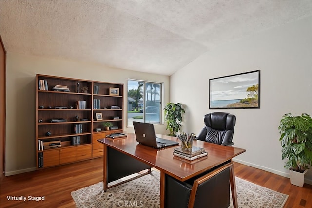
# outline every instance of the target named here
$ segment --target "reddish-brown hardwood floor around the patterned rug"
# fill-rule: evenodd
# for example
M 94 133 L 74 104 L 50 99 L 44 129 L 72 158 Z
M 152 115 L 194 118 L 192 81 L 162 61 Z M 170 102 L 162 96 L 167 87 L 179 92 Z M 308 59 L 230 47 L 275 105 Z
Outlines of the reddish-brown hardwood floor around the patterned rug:
M 1 208 L 75 208 L 71 191 L 98 183 L 103 177 L 103 159 L 83 161 L 4 177 Z M 235 175 L 263 187 L 289 195 L 284 208 L 312 208 L 312 185 L 296 187 L 288 178 L 234 163 Z M 44 201 L 8 200 L 9 196 L 44 196 Z

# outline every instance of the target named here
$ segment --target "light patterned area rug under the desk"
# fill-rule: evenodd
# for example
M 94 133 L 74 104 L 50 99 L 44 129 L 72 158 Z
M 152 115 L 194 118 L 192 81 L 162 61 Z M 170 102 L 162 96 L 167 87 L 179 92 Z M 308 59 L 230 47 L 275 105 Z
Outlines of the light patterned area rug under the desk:
M 151 174 L 103 191 L 103 182 L 71 192 L 78 208 L 160 207 L 160 174 Z M 238 177 L 236 180 L 239 208 L 282 208 L 288 195 L 258 186 Z M 116 183 L 116 182 L 115 182 Z M 109 184 L 111 185 L 111 184 Z M 230 207 L 233 208 L 232 196 Z

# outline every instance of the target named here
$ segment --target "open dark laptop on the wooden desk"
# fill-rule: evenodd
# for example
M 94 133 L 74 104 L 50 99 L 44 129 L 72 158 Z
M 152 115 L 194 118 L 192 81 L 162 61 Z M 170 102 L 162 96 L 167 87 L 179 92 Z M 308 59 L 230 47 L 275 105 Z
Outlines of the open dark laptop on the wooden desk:
M 153 148 L 159 149 L 179 144 L 176 141 L 156 137 L 153 124 L 135 121 L 132 123 L 135 130 L 137 142 L 142 145 L 151 146 Z

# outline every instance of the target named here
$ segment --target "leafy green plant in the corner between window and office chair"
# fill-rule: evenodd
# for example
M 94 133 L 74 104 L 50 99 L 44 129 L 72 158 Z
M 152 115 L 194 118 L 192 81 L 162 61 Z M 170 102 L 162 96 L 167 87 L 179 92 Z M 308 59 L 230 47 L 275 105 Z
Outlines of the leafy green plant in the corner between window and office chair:
M 181 103 L 167 103 L 165 108 L 165 121 L 167 123 L 167 129 L 169 129 L 169 136 L 176 136 L 176 133 L 180 130 L 182 122 L 182 113 L 185 113 L 185 110 L 182 107 Z

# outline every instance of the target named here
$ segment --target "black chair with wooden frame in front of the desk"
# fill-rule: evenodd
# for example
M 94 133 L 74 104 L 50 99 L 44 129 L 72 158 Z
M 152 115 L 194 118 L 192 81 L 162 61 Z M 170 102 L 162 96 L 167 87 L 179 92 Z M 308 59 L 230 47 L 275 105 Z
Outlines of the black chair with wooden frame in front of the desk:
M 206 172 L 186 182 L 165 175 L 166 208 L 228 208 L 230 206 L 230 168 L 232 163 Z

